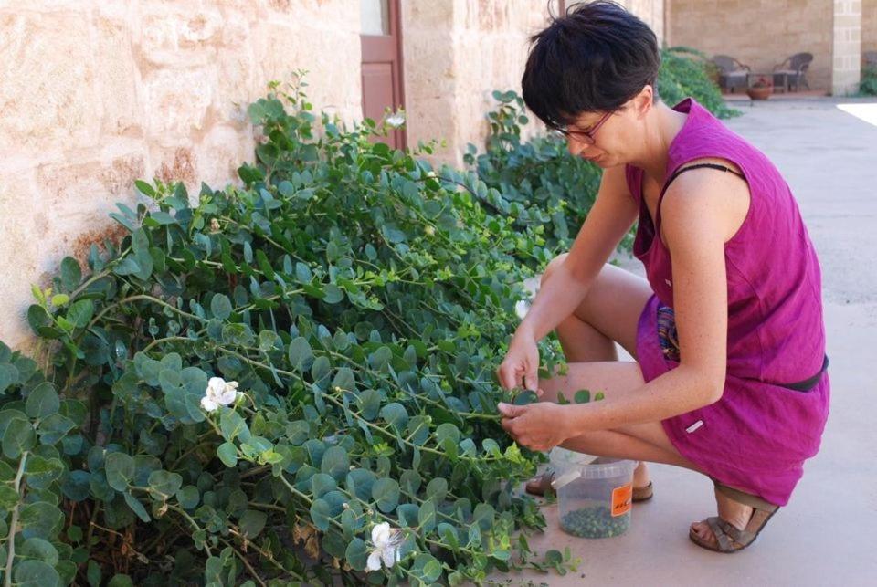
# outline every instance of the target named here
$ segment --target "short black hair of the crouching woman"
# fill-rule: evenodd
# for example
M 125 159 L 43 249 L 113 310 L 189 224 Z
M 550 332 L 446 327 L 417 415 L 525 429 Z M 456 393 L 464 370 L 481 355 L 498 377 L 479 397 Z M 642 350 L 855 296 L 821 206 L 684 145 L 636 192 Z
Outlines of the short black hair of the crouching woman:
M 614 2 L 570 6 L 530 40 L 523 101 L 550 128 L 583 112 L 616 110 L 645 86 L 655 87 L 658 38 Z

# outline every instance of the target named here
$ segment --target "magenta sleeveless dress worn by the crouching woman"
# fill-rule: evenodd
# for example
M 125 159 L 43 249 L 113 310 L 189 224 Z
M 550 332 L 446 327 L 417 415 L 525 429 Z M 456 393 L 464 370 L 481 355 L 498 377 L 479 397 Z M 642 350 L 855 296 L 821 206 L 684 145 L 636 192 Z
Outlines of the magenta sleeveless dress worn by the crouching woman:
M 785 506 L 819 450 L 829 413 L 829 376 L 808 391 L 784 386 L 823 369 L 825 327 L 816 252 L 798 204 L 766 156 L 695 100 L 674 110 L 688 119 L 671 143 L 666 178 L 704 157 L 734 162 L 751 193 L 743 225 L 724 246 L 728 278 L 728 358 L 724 394 L 715 404 L 662 421 L 672 444 L 717 480 Z M 643 172 L 626 169 L 639 204 L 634 255 L 654 296 L 639 317 L 637 358 L 646 381 L 679 363 L 662 351 L 659 313 L 673 307 L 671 257 L 660 240 L 660 200 L 653 224 L 643 202 Z M 661 198 L 663 194 L 661 194 Z

